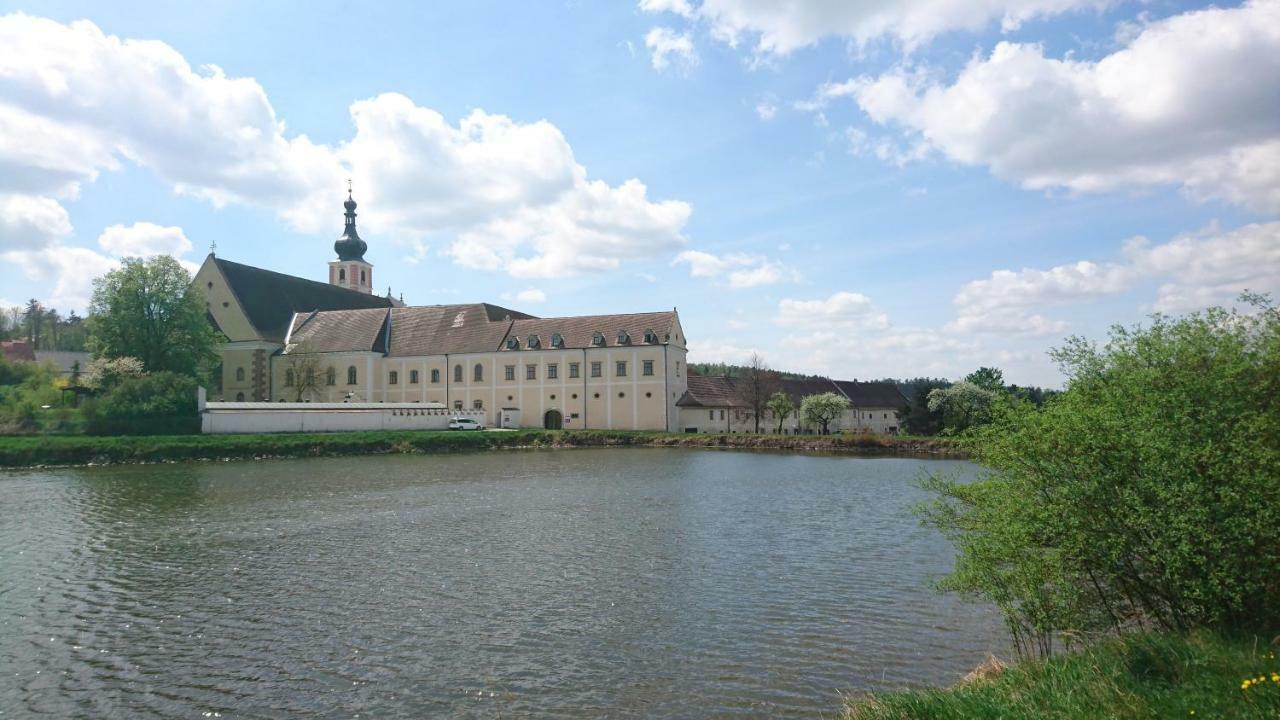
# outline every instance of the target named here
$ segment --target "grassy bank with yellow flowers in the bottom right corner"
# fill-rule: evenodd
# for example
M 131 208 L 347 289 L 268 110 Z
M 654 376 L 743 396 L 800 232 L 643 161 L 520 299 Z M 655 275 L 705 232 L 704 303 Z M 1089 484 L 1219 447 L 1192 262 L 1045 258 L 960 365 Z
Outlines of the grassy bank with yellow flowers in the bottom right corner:
M 950 689 L 852 700 L 845 720 L 1274 720 L 1280 717 L 1277 656 L 1270 637 L 1130 635 Z

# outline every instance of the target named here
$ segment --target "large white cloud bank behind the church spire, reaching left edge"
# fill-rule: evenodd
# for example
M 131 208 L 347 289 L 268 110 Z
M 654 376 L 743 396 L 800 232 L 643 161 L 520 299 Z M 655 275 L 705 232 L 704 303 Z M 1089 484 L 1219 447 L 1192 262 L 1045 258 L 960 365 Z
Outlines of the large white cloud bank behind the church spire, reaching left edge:
M 684 243 L 687 204 L 652 201 L 637 179 L 590 179 L 547 120 L 475 110 L 454 126 L 385 94 L 352 104 L 349 141 L 317 145 L 287 133 L 252 78 L 193 69 L 163 42 L 14 14 L 0 17 L 0 195 L 50 211 L 132 163 L 177 192 L 269 208 L 302 232 L 337 231 L 351 176 L 370 231 L 444 236 L 460 264 L 521 277 L 612 269 Z

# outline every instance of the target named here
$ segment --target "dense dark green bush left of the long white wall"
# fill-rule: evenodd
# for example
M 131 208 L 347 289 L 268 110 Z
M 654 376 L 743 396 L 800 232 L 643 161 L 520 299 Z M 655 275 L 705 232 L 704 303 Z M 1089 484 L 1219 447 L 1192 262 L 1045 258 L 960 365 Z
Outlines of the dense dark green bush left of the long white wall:
M 173 434 L 200 430 L 196 380 L 151 373 L 116 382 L 84 406 L 92 434 Z

